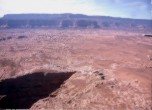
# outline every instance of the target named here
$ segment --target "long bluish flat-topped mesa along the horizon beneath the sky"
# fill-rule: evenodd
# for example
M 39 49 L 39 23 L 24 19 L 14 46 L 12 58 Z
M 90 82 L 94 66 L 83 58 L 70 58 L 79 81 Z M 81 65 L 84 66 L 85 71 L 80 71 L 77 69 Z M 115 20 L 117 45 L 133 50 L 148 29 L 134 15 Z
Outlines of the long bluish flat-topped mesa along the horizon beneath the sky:
M 81 14 L 8 14 L 1 28 L 102 28 L 151 30 L 152 20 L 86 16 Z

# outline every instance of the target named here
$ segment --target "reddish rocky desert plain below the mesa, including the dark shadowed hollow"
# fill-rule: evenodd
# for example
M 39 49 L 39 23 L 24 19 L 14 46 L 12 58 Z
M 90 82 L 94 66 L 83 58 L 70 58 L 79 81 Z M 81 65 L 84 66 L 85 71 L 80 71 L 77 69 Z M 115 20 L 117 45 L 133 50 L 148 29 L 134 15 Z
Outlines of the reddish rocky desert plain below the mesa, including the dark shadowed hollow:
M 152 38 L 143 34 L 0 30 L 0 108 L 151 110 Z

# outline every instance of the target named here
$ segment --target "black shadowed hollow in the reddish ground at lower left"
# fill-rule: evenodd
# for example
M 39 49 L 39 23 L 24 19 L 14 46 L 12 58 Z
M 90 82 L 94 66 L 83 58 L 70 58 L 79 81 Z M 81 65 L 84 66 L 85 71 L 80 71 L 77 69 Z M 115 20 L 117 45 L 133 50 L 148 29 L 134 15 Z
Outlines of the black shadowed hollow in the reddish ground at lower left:
M 36 72 L 0 82 L 0 108 L 28 109 L 57 90 L 75 72 Z

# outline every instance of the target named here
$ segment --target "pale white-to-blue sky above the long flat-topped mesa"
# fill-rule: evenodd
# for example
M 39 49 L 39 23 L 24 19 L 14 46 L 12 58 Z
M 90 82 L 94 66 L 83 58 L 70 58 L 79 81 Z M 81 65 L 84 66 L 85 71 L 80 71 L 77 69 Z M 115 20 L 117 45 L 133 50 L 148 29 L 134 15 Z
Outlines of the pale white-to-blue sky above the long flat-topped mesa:
M 0 17 L 20 13 L 74 13 L 151 19 L 151 9 L 151 0 L 0 0 Z

